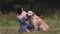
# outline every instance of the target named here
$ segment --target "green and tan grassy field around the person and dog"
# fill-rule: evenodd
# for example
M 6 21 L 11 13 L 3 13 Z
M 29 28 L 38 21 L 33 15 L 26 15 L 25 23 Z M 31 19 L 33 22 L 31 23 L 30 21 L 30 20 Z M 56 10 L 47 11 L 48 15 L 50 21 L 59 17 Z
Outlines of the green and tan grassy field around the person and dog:
M 49 25 L 50 30 L 47 32 L 37 31 L 37 32 L 23 32 L 19 33 L 19 24 L 16 19 L 16 14 L 10 13 L 0 14 L 0 34 L 60 34 L 60 16 L 57 14 L 51 16 L 41 16 Z

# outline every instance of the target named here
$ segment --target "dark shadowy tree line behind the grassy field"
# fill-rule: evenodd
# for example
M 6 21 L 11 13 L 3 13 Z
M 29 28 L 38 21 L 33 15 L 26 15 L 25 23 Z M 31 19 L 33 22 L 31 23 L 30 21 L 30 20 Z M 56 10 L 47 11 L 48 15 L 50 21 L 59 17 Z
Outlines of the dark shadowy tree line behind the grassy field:
M 48 9 L 60 9 L 60 2 L 59 0 L 0 0 L 0 12 L 2 13 L 16 12 L 18 7 L 44 13 Z

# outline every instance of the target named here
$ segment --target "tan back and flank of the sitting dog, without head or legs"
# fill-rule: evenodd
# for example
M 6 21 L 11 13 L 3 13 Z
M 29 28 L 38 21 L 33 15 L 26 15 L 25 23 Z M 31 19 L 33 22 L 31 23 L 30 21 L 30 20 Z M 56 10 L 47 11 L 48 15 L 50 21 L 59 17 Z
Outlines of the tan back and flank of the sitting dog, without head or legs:
M 43 30 L 46 31 L 49 29 L 48 25 L 46 24 L 46 22 L 41 19 L 40 17 L 38 17 L 37 15 L 35 15 L 33 17 L 33 21 L 36 22 L 35 24 L 37 24 L 37 26 L 39 26 L 41 28 L 41 26 L 43 26 Z

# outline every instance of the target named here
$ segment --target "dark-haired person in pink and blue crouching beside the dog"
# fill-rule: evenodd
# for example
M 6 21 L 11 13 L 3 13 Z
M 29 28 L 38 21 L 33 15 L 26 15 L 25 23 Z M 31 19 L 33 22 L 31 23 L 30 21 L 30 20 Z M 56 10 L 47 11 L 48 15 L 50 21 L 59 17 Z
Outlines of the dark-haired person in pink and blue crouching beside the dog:
M 20 28 L 18 31 L 25 31 L 25 32 L 30 32 L 29 29 L 27 28 L 29 26 L 29 23 L 27 21 L 27 13 L 23 10 L 23 8 L 18 8 L 18 14 L 17 14 L 17 19 L 20 25 Z

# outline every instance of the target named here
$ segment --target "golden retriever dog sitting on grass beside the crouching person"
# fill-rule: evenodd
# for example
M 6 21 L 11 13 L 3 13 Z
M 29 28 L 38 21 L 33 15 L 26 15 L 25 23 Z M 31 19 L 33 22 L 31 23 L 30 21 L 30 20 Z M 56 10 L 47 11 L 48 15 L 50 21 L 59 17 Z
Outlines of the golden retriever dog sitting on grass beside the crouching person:
M 38 17 L 34 12 L 28 11 L 28 16 L 30 17 L 30 21 L 34 26 L 34 31 L 37 31 L 38 28 L 43 31 L 47 31 L 49 29 L 49 26 L 46 24 L 46 22 Z

